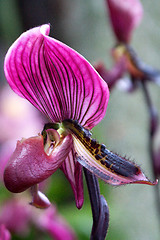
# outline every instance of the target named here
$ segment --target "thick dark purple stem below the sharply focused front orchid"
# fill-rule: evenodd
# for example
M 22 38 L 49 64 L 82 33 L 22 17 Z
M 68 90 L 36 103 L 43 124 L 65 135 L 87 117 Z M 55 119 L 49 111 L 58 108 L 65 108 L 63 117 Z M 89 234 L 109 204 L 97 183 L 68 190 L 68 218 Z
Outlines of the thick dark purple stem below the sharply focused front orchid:
M 104 240 L 109 226 L 109 208 L 105 198 L 100 195 L 97 177 L 83 168 L 93 216 L 91 240 Z

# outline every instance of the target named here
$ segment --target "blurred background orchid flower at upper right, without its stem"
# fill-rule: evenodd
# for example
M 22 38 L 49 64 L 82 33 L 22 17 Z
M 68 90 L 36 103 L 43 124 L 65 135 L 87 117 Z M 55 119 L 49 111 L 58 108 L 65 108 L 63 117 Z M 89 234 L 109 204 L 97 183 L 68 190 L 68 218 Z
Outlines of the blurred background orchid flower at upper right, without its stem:
M 116 46 L 112 49 L 112 56 L 116 62 L 115 70 L 116 72 L 120 70 L 121 76 L 127 72 L 131 78 L 131 80 L 120 81 L 119 86 L 127 91 L 133 91 L 137 88 L 137 82 L 142 80 L 160 84 L 160 71 L 143 63 L 133 48 L 129 46 L 132 34 L 143 17 L 141 2 L 139 0 L 105 0 L 105 2 L 116 40 Z M 109 84 L 112 80 L 111 87 L 119 80 L 118 77 L 121 77 L 116 76 L 110 80 L 110 76 L 103 66 L 98 71 L 100 75 L 104 76 L 106 82 L 109 81 Z

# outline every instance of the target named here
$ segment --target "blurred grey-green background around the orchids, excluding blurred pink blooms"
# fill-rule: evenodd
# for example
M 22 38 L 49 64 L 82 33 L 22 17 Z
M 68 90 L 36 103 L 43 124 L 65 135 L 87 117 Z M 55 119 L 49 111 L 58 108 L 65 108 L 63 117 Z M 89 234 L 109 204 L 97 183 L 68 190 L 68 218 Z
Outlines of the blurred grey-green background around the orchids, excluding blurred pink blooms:
M 141 2 L 144 17 L 134 32 L 132 46 L 141 59 L 160 69 L 160 3 L 158 0 Z M 1 0 L 0 88 L 5 84 L 3 60 L 10 44 L 24 30 L 48 22 L 51 36 L 76 49 L 91 63 L 101 60 L 108 69 L 112 67 L 110 50 L 115 40 L 104 0 Z M 160 87 L 149 84 L 149 90 L 160 116 Z M 135 160 L 154 180 L 148 154 L 148 134 L 148 112 L 141 90 L 127 94 L 115 88 L 107 114 L 93 130 L 93 136 L 105 143 L 108 149 Z M 51 181 L 47 196 L 76 231 L 78 239 L 89 239 L 92 218 L 86 186 L 84 206 L 77 210 L 64 175 L 57 171 Z M 100 188 L 110 208 L 107 239 L 160 239 L 154 187 L 112 187 L 100 181 Z M 10 195 L 3 186 L 0 189 L 2 204 Z M 21 238 L 15 236 L 13 239 Z M 34 239 L 34 235 L 25 239 Z M 44 236 L 43 239 L 50 238 Z

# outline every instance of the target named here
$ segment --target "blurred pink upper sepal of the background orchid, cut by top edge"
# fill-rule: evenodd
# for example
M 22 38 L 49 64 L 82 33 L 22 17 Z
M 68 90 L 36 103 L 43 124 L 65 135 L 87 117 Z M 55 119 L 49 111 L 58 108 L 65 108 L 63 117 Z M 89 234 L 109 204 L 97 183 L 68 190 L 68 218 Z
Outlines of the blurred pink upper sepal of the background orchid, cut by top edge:
M 143 16 L 139 0 L 106 0 L 113 31 L 120 42 L 128 43 Z

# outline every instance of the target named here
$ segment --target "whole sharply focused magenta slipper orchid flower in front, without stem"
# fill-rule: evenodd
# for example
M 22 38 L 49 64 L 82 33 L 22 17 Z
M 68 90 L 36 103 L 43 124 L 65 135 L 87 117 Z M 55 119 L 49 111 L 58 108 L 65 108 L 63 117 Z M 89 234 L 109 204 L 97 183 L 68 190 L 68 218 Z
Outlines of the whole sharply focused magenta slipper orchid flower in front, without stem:
M 25 191 L 60 168 L 81 208 L 82 166 L 112 185 L 155 184 L 135 163 L 92 139 L 90 130 L 106 113 L 108 86 L 84 57 L 49 37 L 49 31 L 46 24 L 23 33 L 5 57 L 13 91 L 48 118 L 41 134 L 17 142 L 4 172 L 6 187 Z

